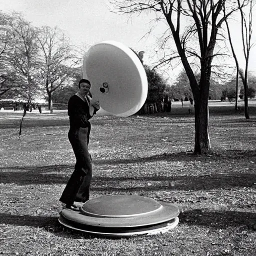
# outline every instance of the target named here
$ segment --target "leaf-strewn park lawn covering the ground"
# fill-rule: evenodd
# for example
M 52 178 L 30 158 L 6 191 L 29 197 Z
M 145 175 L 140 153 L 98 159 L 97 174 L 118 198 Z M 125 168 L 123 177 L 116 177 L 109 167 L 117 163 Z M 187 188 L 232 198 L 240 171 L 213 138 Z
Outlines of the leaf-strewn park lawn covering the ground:
M 219 109 L 218 109 L 219 110 Z M 66 229 L 58 201 L 75 158 L 66 113 L 0 113 L 0 254 L 256 255 L 256 114 L 210 116 L 212 151 L 192 154 L 192 115 L 91 121 L 91 198 L 137 194 L 180 209 L 155 236 L 109 239 Z

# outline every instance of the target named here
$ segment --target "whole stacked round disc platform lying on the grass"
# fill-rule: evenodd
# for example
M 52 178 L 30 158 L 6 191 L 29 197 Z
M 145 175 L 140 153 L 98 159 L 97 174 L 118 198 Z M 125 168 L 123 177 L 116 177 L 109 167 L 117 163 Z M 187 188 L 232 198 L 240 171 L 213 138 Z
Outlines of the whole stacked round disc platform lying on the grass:
M 138 195 L 107 195 L 80 206 L 80 211 L 63 209 L 59 222 L 87 233 L 123 237 L 164 233 L 179 221 L 176 206 Z

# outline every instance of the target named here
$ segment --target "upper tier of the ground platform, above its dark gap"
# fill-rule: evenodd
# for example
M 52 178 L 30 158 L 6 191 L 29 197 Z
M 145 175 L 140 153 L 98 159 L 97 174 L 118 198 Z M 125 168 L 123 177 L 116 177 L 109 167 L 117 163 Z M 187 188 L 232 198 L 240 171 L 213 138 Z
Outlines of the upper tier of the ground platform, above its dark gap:
M 82 225 L 121 228 L 159 224 L 179 215 L 174 205 L 138 195 L 105 195 L 80 205 L 79 212 L 63 209 L 61 216 Z

